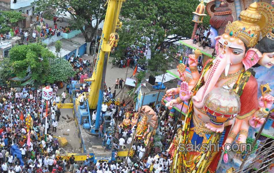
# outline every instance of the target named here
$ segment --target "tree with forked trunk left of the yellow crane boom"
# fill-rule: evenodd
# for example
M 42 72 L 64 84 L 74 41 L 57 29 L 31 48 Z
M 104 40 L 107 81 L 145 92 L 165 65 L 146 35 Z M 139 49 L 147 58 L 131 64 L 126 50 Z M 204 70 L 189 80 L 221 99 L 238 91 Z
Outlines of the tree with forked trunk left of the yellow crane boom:
M 70 23 L 72 29 L 80 29 L 85 37 L 87 44 L 87 53 L 89 54 L 89 46 L 95 33 L 97 31 L 98 23 L 100 24 L 106 13 L 106 7 L 104 0 L 35 0 L 33 4 L 37 7 L 36 11 L 51 12 L 52 10 L 58 9 L 56 15 L 67 12 L 73 19 Z M 92 25 L 92 23 L 96 23 Z M 87 24 L 89 29 L 84 30 L 83 25 Z

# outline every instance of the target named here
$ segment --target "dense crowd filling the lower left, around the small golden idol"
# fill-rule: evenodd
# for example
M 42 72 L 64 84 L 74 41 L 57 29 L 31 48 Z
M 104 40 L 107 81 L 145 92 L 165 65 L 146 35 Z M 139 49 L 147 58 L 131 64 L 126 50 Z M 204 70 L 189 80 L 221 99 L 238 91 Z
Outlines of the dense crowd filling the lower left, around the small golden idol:
M 46 101 L 42 101 L 42 87 L 35 88 L 32 85 L 21 89 L 0 89 L 1 172 L 52 172 L 63 162 L 57 159 L 60 148 L 54 137 L 61 115 L 56 106 L 56 103 L 61 102 L 56 93 L 58 87 L 51 86 L 54 90 L 52 99 L 48 101 L 47 123 L 44 118 Z

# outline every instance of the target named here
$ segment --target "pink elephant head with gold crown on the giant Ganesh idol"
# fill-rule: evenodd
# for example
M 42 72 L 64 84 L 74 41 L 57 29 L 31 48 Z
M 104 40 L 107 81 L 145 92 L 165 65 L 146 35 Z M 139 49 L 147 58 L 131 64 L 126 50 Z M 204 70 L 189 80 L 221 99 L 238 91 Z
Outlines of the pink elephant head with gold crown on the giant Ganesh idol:
M 216 37 L 217 57 L 213 60 L 202 95 L 193 97 L 198 108 L 203 107 L 204 97 L 216 86 L 221 75 L 237 73 L 244 70 L 243 67 L 247 70 L 261 57 L 259 51 L 249 50 L 256 45 L 260 35 L 260 27 L 256 24 L 261 18 L 258 5 L 251 4 L 247 10 L 241 12 L 240 17 L 241 21 L 229 22 L 225 33 Z

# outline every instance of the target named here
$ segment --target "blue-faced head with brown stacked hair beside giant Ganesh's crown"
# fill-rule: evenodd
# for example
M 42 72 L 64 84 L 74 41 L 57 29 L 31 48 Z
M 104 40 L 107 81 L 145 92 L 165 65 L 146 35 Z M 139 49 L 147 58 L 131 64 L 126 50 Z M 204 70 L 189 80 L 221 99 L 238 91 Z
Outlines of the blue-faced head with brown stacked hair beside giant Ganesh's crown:
M 209 20 L 211 25 L 209 30 L 211 46 L 216 45 L 215 37 L 224 33 L 228 22 L 233 22 L 232 11 L 228 7 L 228 4 L 225 1 L 222 1 L 220 6 L 216 8 L 214 15 Z

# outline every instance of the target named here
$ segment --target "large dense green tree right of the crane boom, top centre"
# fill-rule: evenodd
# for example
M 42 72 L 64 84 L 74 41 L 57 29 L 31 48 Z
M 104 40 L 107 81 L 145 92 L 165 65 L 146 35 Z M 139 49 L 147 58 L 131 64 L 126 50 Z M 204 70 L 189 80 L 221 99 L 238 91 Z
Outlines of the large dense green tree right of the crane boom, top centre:
M 123 26 L 115 52 L 116 58 L 125 57 L 125 50 L 133 44 L 150 45 L 151 59 L 147 59 L 150 74 L 168 69 L 176 49 L 172 43 L 189 39 L 194 22 L 193 13 L 198 0 L 128 0 L 123 4 Z

